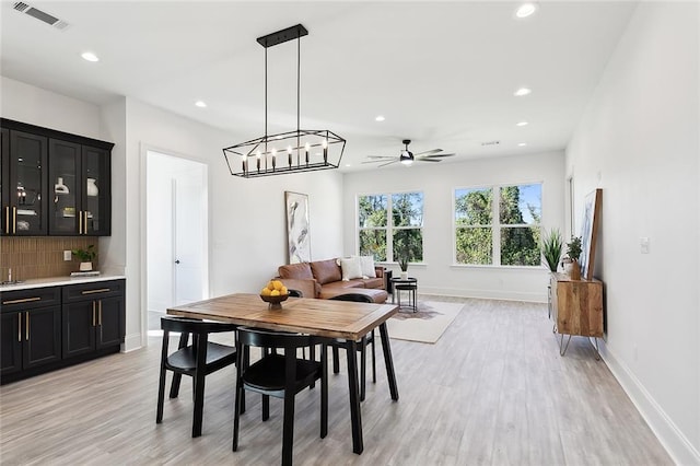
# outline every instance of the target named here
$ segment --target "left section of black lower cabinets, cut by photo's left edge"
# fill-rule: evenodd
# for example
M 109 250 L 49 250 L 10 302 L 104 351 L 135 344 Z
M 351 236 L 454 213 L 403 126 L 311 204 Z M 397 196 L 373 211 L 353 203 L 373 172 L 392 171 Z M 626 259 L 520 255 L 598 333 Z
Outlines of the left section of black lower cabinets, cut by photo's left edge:
M 61 359 L 60 288 L 2 293 L 0 375 Z

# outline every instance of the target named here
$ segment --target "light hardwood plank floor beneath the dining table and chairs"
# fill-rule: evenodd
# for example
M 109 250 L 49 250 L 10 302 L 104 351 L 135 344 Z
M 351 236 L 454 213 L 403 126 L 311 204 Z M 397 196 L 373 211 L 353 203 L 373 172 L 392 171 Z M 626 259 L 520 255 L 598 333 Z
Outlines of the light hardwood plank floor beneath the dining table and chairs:
M 574 337 L 559 356 L 546 305 L 460 301 L 465 307 L 435 345 L 392 340 L 398 401 L 377 348 L 378 380 L 362 404 L 362 455 L 352 453 L 345 368 L 330 380 L 326 439 L 318 438 L 318 389 L 299 394 L 295 463 L 673 464 L 587 340 Z M 248 396 L 240 451 L 231 451 L 233 366 L 207 378 L 201 438 L 190 438 L 189 378 L 178 399 L 166 398 L 156 426 L 160 338 L 149 343 L 2 386 L 0 463 L 279 464 L 280 400 L 261 422 L 259 397 Z

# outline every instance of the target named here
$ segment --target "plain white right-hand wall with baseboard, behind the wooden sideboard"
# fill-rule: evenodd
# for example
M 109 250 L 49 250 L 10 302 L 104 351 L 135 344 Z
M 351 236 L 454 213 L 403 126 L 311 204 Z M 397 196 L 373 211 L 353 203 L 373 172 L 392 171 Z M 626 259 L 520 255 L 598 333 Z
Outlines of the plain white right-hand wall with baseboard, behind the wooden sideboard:
M 567 150 L 576 219 L 603 188 L 603 357 L 678 464 L 700 464 L 699 20 L 641 2 Z

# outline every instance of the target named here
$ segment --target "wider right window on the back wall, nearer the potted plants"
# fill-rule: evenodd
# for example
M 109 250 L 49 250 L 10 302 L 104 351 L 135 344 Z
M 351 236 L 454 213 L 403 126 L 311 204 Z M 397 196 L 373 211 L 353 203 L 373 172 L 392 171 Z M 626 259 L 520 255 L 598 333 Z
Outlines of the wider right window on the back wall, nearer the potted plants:
M 455 263 L 539 266 L 541 184 L 455 189 Z

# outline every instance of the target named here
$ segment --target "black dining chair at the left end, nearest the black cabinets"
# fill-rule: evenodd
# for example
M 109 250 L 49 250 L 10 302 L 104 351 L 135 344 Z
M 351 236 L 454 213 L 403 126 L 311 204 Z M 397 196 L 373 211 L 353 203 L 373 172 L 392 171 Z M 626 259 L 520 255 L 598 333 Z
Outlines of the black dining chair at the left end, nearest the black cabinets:
M 163 349 L 161 352 L 161 376 L 158 389 L 158 413 L 155 422 L 163 421 L 163 403 L 165 398 L 166 371 L 173 372 L 171 398 L 177 398 L 183 375 L 192 377 L 192 395 L 195 415 L 192 418 L 192 436 L 201 435 L 201 421 L 205 405 L 205 377 L 212 372 L 236 362 L 235 347 L 209 341 L 210 334 L 235 331 L 234 324 L 203 322 L 186 317 L 161 317 L 163 329 Z M 168 354 L 170 334 L 179 331 L 177 351 Z M 189 336 L 192 343 L 188 345 Z

